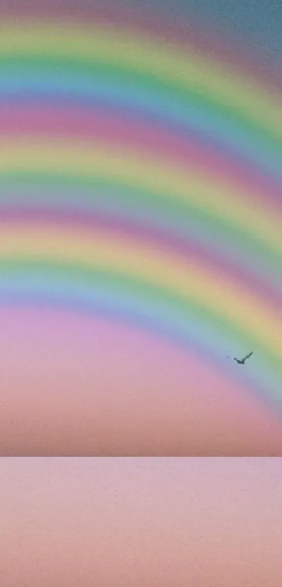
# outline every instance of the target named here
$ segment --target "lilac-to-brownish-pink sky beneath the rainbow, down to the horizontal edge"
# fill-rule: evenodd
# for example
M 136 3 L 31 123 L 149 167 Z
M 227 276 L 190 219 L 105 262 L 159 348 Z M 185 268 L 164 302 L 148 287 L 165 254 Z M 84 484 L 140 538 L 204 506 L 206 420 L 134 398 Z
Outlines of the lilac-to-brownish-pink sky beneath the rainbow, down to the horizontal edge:
M 0 324 L 1 455 L 281 454 L 274 409 L 182 348 L 67 312 Z

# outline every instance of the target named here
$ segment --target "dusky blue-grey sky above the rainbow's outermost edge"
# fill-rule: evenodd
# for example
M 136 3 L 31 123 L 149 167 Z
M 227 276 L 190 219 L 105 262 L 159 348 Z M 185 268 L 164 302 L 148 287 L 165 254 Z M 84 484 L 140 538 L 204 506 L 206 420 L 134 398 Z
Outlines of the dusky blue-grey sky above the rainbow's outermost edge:
M 23 5 L 18 0 L 13 3 L 22 13 Z M 89 6 L 101 6 L 100 0 L 80 0 L 81 10 Z M 26 0 L 27 10 L 37 9 L 45 5 L 78 6 L 76 0 L 61 0 L 59 5 L 55 0 Z M 200 27 L 206 27 L 219 36 L 226 36 L 229 41 L 241 41 L 245 46 L 253 48 L 261 55 L 267 55 L 281 66 L 282 56 L 282 3 L 281 0 L 103 0 L 102 5 L 115 8 L 133 8 L 139 13 L 150 15 L 157 13 L 169 20 L 184 19 L 197 22 Z M 1 1 L 1 9 L 10 8 L 10 0 Z M 39 8 L 38 8 L 39 9 Z

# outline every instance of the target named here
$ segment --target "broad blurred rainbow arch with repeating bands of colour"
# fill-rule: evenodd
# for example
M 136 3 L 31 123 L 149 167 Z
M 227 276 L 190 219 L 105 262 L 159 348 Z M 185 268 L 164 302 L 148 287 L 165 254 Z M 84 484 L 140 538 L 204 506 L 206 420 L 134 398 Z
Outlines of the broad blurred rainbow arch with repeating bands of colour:
M 146 329 L 278 409 L 281 87 L 168 31 L 1 19 L 0 304 Z

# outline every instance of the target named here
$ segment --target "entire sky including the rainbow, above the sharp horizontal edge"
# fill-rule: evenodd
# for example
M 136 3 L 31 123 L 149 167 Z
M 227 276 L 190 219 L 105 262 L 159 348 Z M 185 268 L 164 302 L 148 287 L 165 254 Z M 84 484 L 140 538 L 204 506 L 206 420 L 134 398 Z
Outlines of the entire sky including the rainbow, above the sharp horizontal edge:
M 282 455 L 281 7 L 0 2 L 0 456 Z

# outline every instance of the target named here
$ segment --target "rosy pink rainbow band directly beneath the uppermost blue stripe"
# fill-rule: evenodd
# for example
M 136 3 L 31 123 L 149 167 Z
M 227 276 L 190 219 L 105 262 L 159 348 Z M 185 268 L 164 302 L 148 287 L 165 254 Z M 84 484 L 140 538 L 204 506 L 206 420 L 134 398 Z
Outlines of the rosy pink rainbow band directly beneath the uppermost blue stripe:
M 72 140 L 100 141 L 101 145 L 123 146 L 134 149 L 146 157 L 155 155 L 157 160 L 164 157 L 171 163 L 185 165 L 186 169 L 198 173 L 211 174 L 232 188 L 247 192 L 248 199 L 266 208 L 282 212 L 281 191 L 260 169 L 252 169 L 244 162 L 234 162 L 222 151 L 216 152 L 214 146 L 205 145 L 196 136 L 181 136 L 171 129 L 152 125 L 146 120 L 120 117 L 104 108 L 87 111 L 85 108 L 70 106 L 3 106 L 0 110 L 0 135 L 12 137 L 13 134 L 38 134 L 44 140 L 50 136 L 66 136 Z M 251 201 L 251 200 L 250 200 Z

